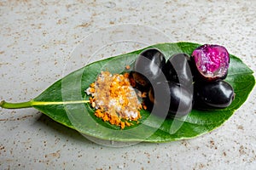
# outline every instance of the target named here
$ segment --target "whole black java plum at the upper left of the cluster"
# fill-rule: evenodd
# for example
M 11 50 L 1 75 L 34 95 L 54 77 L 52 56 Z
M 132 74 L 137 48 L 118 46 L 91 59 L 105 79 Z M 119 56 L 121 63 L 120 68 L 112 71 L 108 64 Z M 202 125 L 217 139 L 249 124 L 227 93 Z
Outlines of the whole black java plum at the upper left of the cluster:
M 138 86 L 147 88 L 150 82 L 161 82 L 165 79 L 163 67 L 165 55 L 157 48 L 148 48 L 138 55 L 131 75 Z

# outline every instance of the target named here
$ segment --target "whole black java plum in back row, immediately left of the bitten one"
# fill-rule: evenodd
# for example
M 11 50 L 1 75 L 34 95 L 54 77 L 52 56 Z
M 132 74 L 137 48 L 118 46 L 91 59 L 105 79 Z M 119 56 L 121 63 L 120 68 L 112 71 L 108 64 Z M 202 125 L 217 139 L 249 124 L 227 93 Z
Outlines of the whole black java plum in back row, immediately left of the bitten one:
M 180 83 L 185 87 L 191 87 L 193 75 L 191 60 L 188 54 L 174 54 L 167 60 L 164 67 L 166 79 Z

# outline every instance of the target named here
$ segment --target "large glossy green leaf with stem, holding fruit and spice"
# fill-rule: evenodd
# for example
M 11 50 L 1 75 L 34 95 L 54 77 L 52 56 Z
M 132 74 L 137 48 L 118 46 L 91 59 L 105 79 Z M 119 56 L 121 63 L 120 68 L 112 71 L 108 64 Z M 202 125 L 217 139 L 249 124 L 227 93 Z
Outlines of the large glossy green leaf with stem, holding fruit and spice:
M 192 42 L 177 42 L 155 44 L 148 48 L 159 48 L 166 58 L 169 58 L 172 54 L 177 53 L 192 54 L 193 50 L 199 46 L 200 44 Z M 170 133 L 172 123 L 174 123 L 172 118 L 161 119 L 150 115 L 148 111 L 141 111 L 142 119 L 140 123 L 120 130 L 119 127 L 103 122 L 102 119 L 94 116 L 94 111 L 88 104 L 88 96 L 85 95 L 84 90 L 90 86 L 91 82 L 96 81 L 100 71 L 124 72 L 125 65 L 132 65 L 137 58 L 137 54 L 142 50 L 85 65 L 78 71 L 74 71 L 67 77 L 55 82 L 31 101 L 19 104 L 2 101 L 0 106 L 3 108 L 32 106 L 55 120 L 55 122 L 60 122 L 80 133 L 98 139 L 125 142 L 168 142 L 194 138 L 220 127 L 246 101 L 255 84 L 253 71 L 243 64 L 241 59 L 230 55 L 230 69 L 226 81 L 233 86 L 236 98 L 229 107 L 204 111 L 193 110 L 185 120 L 175 120 L 175 123 L 182 125 L 176 133 Z

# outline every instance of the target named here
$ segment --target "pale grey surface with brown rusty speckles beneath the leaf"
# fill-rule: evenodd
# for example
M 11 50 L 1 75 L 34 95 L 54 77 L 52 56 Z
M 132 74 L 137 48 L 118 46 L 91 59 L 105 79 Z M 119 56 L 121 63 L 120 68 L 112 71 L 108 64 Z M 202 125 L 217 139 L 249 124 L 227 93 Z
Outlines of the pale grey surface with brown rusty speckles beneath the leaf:
M 153 26 L 172 42 L 222 44 L 255 72 L 255 11 L 254 0 L 1 1 L 0 100 L 34 98 L 88 61 L 66 65 L 83 37 L 127 23 Z M 254 88 L 222 127 L 201 137 L 123 148 L 95 144 L 32 108 L 0 109 L 0 169 L 253 169 L 255 101 Z

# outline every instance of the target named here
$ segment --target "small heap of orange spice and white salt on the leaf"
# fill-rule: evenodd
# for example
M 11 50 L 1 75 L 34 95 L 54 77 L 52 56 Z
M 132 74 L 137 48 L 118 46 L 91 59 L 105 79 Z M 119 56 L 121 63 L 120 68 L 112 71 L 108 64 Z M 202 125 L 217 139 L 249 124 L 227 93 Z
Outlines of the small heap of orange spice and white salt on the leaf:
M 96 82 L 86 89 L 90 97 L 90 105 L 96 109 L 95 115 L 104 122 L 119 126 L 121 129 L 137 121 L 142 105 L 132 88 L 129 73 L 114 74 L 102 71 Z

